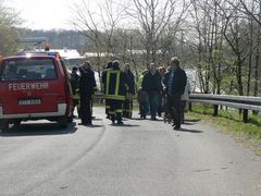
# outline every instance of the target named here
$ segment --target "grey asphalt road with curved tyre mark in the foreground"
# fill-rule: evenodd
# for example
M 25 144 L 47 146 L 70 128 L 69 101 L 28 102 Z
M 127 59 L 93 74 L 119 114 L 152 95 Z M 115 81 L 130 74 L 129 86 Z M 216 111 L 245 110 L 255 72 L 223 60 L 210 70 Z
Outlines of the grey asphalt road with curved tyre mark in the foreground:
M 162 120 L 92 127 L 46 121 L 0 133 L 0 196 L 260 196 L 261 158 L 207 123 Z

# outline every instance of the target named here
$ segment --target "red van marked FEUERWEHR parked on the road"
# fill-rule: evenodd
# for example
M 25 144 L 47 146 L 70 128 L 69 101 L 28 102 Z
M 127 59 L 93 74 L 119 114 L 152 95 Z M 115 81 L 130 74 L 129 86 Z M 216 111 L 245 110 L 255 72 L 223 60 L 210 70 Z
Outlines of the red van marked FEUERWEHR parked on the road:
M 20 53 L 0 59 L 0 130 L 22 121 L 72 122 L 72 89 L 58 52 Z

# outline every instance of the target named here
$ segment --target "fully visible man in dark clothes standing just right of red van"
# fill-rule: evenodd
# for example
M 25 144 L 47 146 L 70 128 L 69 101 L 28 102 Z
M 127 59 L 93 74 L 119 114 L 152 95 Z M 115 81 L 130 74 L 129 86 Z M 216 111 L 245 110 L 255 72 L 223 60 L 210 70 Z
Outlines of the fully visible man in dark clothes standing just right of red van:
M 85 61 L 79 68 L 79 113 L 83 125 L 91 125 L 91 96 L 97 88 L 95 72 L 89 61 Z

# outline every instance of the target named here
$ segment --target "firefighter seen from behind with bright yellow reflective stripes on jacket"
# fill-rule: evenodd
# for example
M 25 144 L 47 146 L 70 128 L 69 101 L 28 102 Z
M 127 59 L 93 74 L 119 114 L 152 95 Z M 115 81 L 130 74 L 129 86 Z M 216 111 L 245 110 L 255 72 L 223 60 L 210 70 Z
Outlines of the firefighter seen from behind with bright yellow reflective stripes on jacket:
M 119 61 L 113 61 L 112 69 L 105 70 L 102 73 L 102 83 L 104 85 L 104 98 L 109 105 L 109 115 L 114 124 L 123 124 L 122 112 L 123 102 L 126 96 L 126 88 L 129 86 L 129 81 L 126 73 L 120 70 Z

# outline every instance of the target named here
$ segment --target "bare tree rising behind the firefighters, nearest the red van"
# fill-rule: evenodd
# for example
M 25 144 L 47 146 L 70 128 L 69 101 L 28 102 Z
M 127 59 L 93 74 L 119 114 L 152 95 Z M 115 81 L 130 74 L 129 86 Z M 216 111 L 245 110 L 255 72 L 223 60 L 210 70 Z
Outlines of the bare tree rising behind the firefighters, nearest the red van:
M 102 70 L 101 56 L 107 53 L 107 59 L 115 50 L 113 46 L 113 34 L 121 17 L 121 10 L 114 8 L 112 0 L 97 4 L 99 13 L 91 12 L 86 0 L 80 0 L 74 4 L 75 19 L 72 20 L 74 28 L 88 38 L 92 44 L 92 51 L 97 53 L 97 71 L 100 74 Z M 89 49 L 88 49 L 89 50 Z

